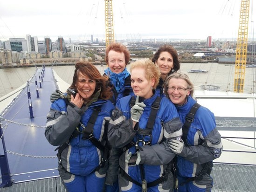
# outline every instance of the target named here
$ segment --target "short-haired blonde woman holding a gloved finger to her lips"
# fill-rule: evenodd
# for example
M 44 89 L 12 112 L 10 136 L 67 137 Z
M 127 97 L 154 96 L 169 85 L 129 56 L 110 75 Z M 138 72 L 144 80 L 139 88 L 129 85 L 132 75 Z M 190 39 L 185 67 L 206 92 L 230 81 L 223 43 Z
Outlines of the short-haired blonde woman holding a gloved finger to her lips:
M 131 87 L 136 95 L 121 98 L 109 122 L 108 139 L 115 150 L 120 150 L 118 183 L 122 192 L 160 192 L 173 189 L 171 164 L 175 154 L 168 148 L 170 139 L 182 135 L 181 122 L 173 103 L 161 98 L 153 128 L 146 132 L 152 105 L 157 98 L 156 87 L 160 71 L 151 60 L 131 63 Z M 127 144 L 130 148 L 124 147 Z M 122 151 L 122 152 L 121 152 Z M 157 182 L 165 175 L 165 179 Z M 156 181 L 156 182 L 154 182 Z

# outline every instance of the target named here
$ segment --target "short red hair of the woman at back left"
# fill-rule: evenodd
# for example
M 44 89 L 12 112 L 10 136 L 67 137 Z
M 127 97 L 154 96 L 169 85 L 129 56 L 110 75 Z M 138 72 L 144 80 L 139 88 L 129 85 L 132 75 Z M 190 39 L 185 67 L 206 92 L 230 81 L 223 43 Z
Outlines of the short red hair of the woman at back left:
M 128 49 L 124 45 L 122 45 L 121 43 L 117 43 L 117 42 L 112 42 L 106 48 L 105 61 L 106 61 L 107 64 L 109 62 L 109 52 L 111 50 L 116 51 L 118 53 L 124 53 L 125 54 L 125 66 L 128 64 L 128 62 L 130 61 L 130 52 L 128 51 Z

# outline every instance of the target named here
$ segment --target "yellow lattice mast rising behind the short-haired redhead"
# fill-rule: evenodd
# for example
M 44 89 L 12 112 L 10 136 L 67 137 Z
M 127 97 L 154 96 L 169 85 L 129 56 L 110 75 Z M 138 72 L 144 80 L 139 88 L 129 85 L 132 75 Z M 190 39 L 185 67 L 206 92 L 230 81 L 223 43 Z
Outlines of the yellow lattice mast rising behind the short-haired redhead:
M 112 0 L 105 0 L 106 47 L 114 42 Z

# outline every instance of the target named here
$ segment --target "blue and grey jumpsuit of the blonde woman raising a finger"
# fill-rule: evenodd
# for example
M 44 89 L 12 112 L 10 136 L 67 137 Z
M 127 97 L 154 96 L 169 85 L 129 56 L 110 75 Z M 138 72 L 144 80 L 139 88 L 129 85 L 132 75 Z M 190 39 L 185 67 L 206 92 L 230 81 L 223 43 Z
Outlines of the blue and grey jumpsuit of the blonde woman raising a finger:
M 131 96 L 126 96 L 118 101 L 116 109 L 113 110 L 111 120 L 109 122 L 108 139 L 110 144 L 116 149 L 124 147 L 126 144 L 138 140 L 145 142 L 151 141 L 151 145 L 140 145 L 139 151 L 141 155 L 140 164 L 143 164 L 145 171 L 145 180 L 150 183 L 158 179 L 168 167 L 168 163 L 174 158 L 175 154 L 168 148 L 167 141 L 181 137 L 181 122 L 179 115 L 173 103 L 166 97 L 161 99 L 157 117 L 153 125 L 152 134 L 144 138 L 145 130 L 151 106 L 155 101 L 157 94 L 151 98 L 143 100 L 146 107 L 138 122 L 138 131 L 133 129 L 131 120 Z M 142 99 L 142 98 L 141 98 Z M 142 101 L 140 101 L 142 102 Z M 142 142 L 143 143 L 143 142 Z M 141 143 L 140 143 L 141 144 Z M 119 158 L 120 169 L 124 170 L 131 178 L 141 184 L 140 166 L 128 166 L 125 163 L 127 154 L 136 152 L 135 146 L 123 152 Z M 141 186 L 125 179 L 123 174 L 118 174 L 119 190 L 122 192 L 141 192 Z M 148 188 L 148 192 L 168 191 L 173 188 L 173 174 L 168 175 L 168 180 L 161 184 Z

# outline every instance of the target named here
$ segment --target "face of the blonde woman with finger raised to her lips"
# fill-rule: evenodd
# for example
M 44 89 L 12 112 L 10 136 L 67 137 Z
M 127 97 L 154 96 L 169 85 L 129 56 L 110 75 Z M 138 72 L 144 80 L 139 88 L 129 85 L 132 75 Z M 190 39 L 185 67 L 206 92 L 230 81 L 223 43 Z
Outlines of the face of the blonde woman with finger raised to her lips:
M 150 98 L 153 95 L 152 86 L 155 80 L 148 81 L 145 75 L 145 69 L 134 68 L 131 70 L 131 88 L 136 96 Z

